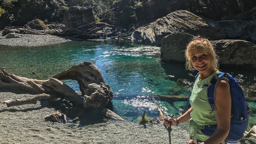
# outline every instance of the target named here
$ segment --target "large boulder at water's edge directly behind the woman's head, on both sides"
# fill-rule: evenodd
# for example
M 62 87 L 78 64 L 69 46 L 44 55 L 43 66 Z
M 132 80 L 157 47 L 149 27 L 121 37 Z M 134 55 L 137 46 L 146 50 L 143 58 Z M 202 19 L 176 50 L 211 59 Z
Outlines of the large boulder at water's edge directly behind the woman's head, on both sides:
M 187 33 L 173 33 L 162 40 L 161 60 L 185 62 L 186 43 L 193 36 Z M 249 64 L 256 67 L 256 45 L 244 40 L 210 41 L 219 56 L 220 64 Z

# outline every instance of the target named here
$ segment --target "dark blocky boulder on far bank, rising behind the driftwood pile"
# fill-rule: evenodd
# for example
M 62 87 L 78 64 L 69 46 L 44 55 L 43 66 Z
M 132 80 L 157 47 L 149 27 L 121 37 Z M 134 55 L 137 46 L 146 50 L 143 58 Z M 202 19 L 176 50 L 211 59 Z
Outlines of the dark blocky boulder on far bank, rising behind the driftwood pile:
M 72 6 L 64 13 L 63 24 L 67 28 L 79 27 L 88 23 L 95 22 L 92 7 Z M 96 28 L 96 24 L 92 25 Z

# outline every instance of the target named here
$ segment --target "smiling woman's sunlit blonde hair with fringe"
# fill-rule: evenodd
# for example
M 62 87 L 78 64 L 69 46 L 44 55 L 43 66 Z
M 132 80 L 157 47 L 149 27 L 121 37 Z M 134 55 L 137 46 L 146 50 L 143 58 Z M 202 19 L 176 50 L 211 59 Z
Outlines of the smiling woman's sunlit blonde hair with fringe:
M 196 40 L 200 36 L 194 36 L 192 42 L 190 42 L 186 47 L 186 69 L 188 70 L 195 70 L 191 63 L 191 49 L 194 49 L 195 52 L 199 53 L 206 53 L 211 56 L 211 68 L 212 69 L 218 69 L 218 56 L 216 55 L 213 46 L 211 45 L 210 41 L 206 38 L 204 38 L 204 41 L 202 40 Z

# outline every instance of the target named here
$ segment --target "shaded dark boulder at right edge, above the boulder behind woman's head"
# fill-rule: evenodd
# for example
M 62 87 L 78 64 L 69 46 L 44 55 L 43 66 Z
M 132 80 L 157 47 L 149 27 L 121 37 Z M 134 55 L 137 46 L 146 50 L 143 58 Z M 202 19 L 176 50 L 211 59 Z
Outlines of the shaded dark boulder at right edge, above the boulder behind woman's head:
M 256 44 L 256 22 L 252 20 L 226 20 L 218 22 L 227 38 L 242 39 Z

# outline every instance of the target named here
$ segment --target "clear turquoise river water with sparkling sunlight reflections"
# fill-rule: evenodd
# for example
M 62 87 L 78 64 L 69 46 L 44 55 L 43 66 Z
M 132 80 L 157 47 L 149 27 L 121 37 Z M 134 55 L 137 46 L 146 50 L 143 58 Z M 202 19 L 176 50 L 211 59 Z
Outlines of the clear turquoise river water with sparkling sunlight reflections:
M 39 47 L 0 46 L 0 61 L 0 67 L 5 67 L 9 73 L 33 79 L 38 79 L 36 75 L 48 79 L 80 62 L 91 61 L 101 69 L 105 83 L 110 84 L 114 92 L 114 112 L 133 122 L 137 122 L 144 109 L 148 116 L 158 116 L 150 95 L 188 96 L 189 85 L 196 74 L 187 71 L 183 63 L 161 62 L 160 47 L 127 41 L 72 41 Z M 252 68 L 223 67 L 221 70 L 239 81 L 247 97 L 255 97 L 253 85 L 256 84 L 256 76 Z M 186 84 L 177 83 L 178 79 L 187 79 Z M 79 91 L 76 81 L 64 82 Z M 252 126 L 256 124 L 256 104 L 248 103 L 252 109 Z M 158 100 L 158 105 L 165 115 L 175 114 L 178 117 L 186 111 L 186 102 L 171 105 Z

